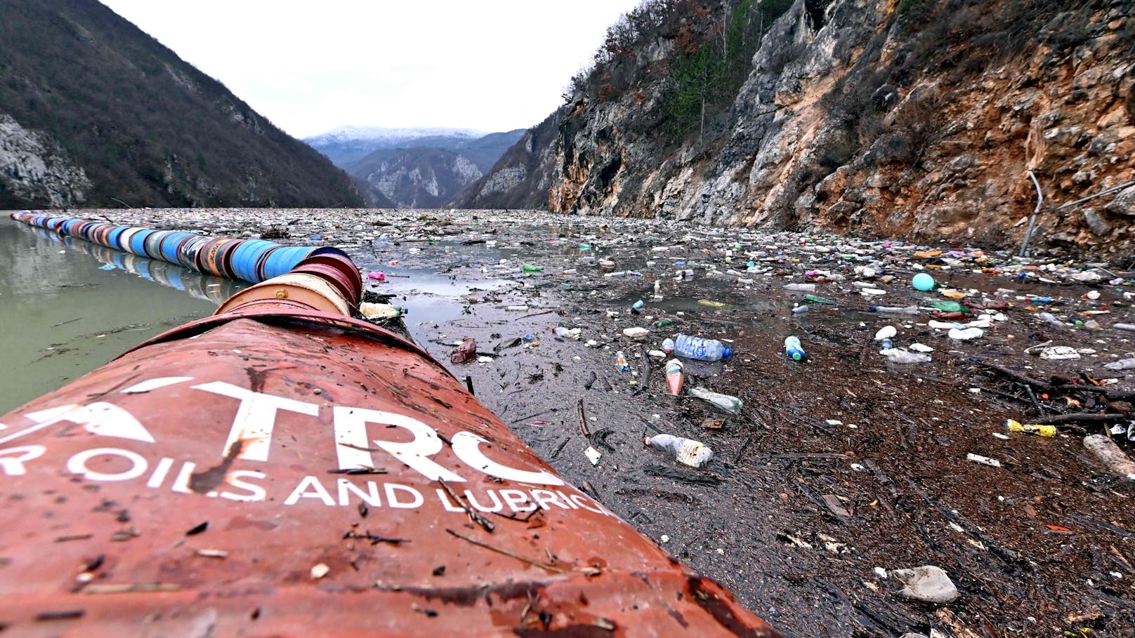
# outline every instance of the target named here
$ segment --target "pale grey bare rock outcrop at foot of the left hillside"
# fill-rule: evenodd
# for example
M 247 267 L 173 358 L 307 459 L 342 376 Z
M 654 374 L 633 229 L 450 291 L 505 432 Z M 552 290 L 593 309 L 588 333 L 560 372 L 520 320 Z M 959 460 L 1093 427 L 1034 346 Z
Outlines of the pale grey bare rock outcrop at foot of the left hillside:
M 64 208 L 82 204 L 91 181 L 50 135 L 0 114 L 0 186 L 16 199 Z

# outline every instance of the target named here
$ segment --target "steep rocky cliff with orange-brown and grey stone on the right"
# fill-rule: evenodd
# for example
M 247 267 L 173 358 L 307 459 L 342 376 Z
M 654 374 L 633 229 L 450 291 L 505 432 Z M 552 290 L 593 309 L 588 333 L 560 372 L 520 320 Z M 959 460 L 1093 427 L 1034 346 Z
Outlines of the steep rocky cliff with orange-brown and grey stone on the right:
M 1029 170 L 1045 208 L 1135 181 L 1130 0 L 797 0 L 691 119 L 691 61 L 724 60 L 739 11 L 772 1 L 648 1 L 647 27 L 608 34 L 615 53 L 555 114 L 548 188 L 530 179 L 530 199 L 1010 247 L 1036 205 Z M 1127 188 L 1042 213 L 1037 241 L 1130 251 L 1133 204 Z

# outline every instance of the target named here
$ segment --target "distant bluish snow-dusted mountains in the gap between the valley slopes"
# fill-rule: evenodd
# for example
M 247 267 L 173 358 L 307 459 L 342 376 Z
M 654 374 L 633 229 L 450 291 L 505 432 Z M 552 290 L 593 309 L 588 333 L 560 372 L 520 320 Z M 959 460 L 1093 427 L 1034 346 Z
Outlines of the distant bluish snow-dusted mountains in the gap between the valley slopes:
M 346 170 L 370 205 L 449 205 L 526 134 L 523 128 L 484 134 L 462 128 L 344 126 L 308 137 Z

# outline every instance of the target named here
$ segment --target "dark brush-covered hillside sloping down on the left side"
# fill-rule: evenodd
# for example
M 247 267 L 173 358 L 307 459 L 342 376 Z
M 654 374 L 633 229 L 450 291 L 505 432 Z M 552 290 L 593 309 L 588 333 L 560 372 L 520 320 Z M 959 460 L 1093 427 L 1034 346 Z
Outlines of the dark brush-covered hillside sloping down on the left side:
M 5 0 L 0 209 L 356 207 L 347 175 L 95 0 Z

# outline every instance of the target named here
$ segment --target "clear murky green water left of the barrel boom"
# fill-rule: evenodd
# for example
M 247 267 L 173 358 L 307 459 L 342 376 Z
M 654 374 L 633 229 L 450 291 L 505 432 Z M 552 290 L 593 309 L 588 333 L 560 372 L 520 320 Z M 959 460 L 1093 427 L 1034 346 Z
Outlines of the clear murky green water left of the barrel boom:
M 0 217 L 0 414 L 185 321 L 241 284 Z

